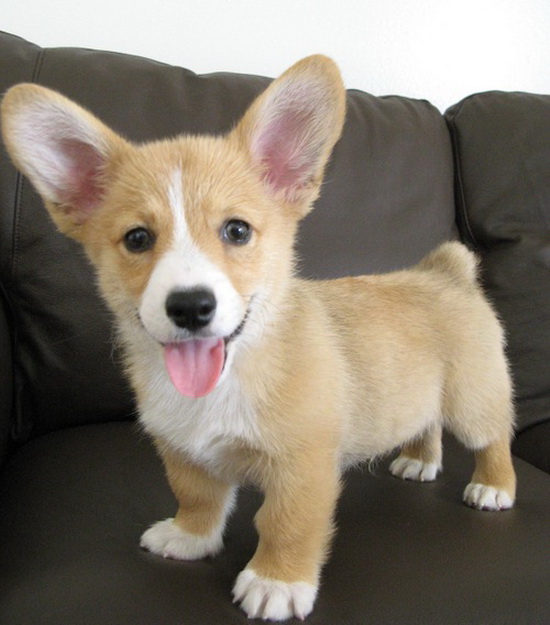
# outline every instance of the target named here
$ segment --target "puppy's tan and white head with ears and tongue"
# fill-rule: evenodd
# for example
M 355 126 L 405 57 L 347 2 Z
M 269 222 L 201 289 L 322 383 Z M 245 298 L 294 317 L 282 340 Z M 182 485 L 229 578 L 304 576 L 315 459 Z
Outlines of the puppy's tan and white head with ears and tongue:
M 201 396 L 277 310 L 344 111 L 336 66 L 313 56 L 223 137 L 132 144 L 36 85 L 8 91 L 2 129 L 59 230 L 83 244 L 119 324 L 164 349 L 176 388 Z

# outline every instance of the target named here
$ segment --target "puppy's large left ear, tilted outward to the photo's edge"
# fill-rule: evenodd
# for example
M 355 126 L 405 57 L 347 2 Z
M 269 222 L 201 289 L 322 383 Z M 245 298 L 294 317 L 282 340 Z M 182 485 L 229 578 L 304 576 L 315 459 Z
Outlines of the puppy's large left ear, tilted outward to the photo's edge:
M 4 143 L 58 228 L 78 236 L 104 196 L 108 165 L 125 142 L 60 94 L 31 84 L 2 102 Z

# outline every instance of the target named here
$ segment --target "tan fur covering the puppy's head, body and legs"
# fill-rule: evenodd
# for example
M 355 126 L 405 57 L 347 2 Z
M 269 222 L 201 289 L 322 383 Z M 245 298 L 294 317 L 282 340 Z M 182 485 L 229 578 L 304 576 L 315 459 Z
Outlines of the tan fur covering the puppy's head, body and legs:
M 304 98 L 311 103 L 299 109 Z M 99 200 L 92 193 L 93 210 L 87 197 L 78 206 L 76 200 L 60 203 L 42 179 L 25 123 L 53 133 L 60 115 L 52 121 L 38 115 L 37 107 L 66 110 L 61 118 L 76 127 L 71 132 L 91 137 L 102 163 L 92 181 L 102 193 Z M 297 181 L 293 171 L 268 171 L 262 152 L 263 129 L 277 123 L 283 109 L 300 122 L 303 117 L 307 128 L 296 150 L 303 150 L 310 165 Z M 147 337 L 135 311 L 155 266 L 174 244 L 166 190 L 174 172 L 181 172 L 192 240 L 254 315 L 229 373 L 246 399 L 239 408 L 243 423 L 238 428 L 229 423 L 223 443 L 215 437 L 207 452 L 192 443 L 186 447 L 175 430 L 159 434 L 146 424 L 179 501 L 176 523 L 198 537 L 223 529 L 232 485 L 251 481 L 262 488 L 265 502 L 256 517 L 258 549 L 247 569 L 260 578 L 312 587 L 328 553 L 341 472 L 350 464 L 404 446 L 403 457 L 439 466 L 446 428 L 475 450 L 473 482 L 500 489 L 511 501 L 515 495 L 504 339 L 477 284 L 471 253 L 448 243 L 417 267 L 388 275 L 320 282 L 294 277 L 297 223 L 318 195 L 344 109 L 338 70 L 324 57 L 305 59 L 286 72 L 225 137 L 136 146 L 36 86 L 12 89 L 2 107 L 12 158 L 42 193 L 60 230 L 83 243 L 96 267 L 103 296 L 119 321 L 142 412 L 156 406 L 168 387 L 162 348 Z M 286 176 L 294 182 L 287 184 Z M 220 241 L 228 218 L 253 224 L 249 244 L 228 247 Z M 156 233 L 156 244 L 132 255 L 123 238 L 140 225 Z M 212 404 L 204 403 L 205 424 L 211 410 L 222 410 L 229 401 L 216 408 L 217 392 Z M 170 411 L 175 404 L 167 399 L 162 405 Z M 217 427 L 215 419 L 211 427 Z M 243 599 L 247 592 L 236 591 L 237 599 L 254 616 L 255 608 Z M 276 610 L 265 610 L 259 615 L 279 618 Z

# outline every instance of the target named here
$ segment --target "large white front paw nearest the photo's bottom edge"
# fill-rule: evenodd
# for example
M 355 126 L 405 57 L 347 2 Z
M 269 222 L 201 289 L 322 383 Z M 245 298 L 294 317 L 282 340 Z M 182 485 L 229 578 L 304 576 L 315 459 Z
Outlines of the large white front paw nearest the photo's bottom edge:
M 300 620 L 313 610 L 317 586 L 307 582 L 279 582 L 259 577 L 246 568 L 237 577 L 233 588 L 234 602 L 240 601 L 248 618 L 286 621 L 295 616 Z

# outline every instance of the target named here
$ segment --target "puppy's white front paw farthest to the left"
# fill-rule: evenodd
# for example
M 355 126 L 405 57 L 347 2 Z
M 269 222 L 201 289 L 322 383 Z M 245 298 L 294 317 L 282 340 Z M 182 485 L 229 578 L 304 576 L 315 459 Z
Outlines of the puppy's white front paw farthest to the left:
M 195 536 L 178 527 L 174 519 L 166 519 L 144 532 L 139 544 L 163 558 L 200 560 L 218 553 L 223 546 L 223 538 L 221 531 L 209 536 Z

